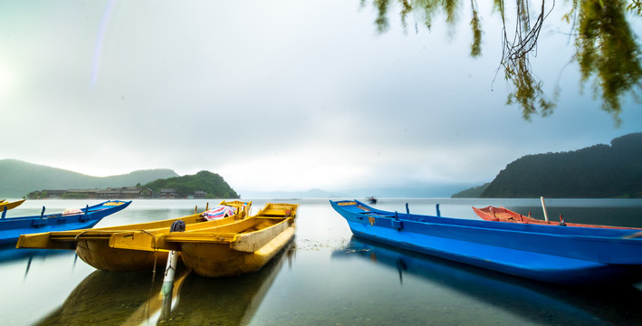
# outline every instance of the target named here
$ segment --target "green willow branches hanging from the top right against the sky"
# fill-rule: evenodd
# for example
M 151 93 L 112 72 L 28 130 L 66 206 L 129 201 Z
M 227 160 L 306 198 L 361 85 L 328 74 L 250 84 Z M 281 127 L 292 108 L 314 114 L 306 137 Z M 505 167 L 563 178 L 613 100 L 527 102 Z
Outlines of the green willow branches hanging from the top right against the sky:
M 396 2 L 405 31 L 408 14 L 414 14 L 429 30 L 435 16 L 442 13 L 446 16 L 446 24 L 453 27 L 457 10 L 463 8 L 460 5 L 463 0 L 372 1 L 378 11 L 375 20 L 378 33 L 388 31 L 388 10 Z M 477 2 L 469 1 L 473 33 L 470 55 L 478 57 L 482 53 L 483 29 Z M 361 6 L 366 4 L 367 0 L 361 0 Z M 503 0 L 493 0 L 493 6 L 503 24 L 503 51 L 498 72 L 503 70 L 505 80 L 512 85 L 507 104 L 518 104 L 525 120 L 533 114 L 550 115 L 555 109 L 559 89 L 551 98 L 546 96 L 542 82 L 532 72 L 530 59 L 537 53 L 541 27 L 555 9 L 555 1 L 541 0 L 531 6 L 529 0 L 515 0 L 514 5 L 507 7 Z M 628 18 L 640 18 L 641 12 L 640 0 L 570 0 L 570 12 L 563 16 L 575 39 L 576 53 L 570 60 L 579 63 L 582 83 L 592 82 L 593 95 L 602 99 L 601 109 L 607 111 L 616 124 L 620 122 L 620 101 L 628 94 L 639 101 L 638 92 L 642 90 L 641 53 L 628 23 Z M 507 21 L 515 22 L 512 33 L 509 33 Z

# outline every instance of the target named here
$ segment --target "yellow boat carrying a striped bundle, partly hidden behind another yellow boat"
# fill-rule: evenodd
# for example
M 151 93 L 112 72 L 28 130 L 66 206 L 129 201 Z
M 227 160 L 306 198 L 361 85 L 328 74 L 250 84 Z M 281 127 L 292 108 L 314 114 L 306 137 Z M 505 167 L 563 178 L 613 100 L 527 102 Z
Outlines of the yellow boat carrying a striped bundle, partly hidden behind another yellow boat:
M 75 250 L 82 261 L 103 271 L 151 270 L 156 265 L 163 266 L 167 262 L 168 251 L 149 252 L 110 247 L 110 236 L 130 231 L 144 232 L 149 235 L 169 233 L 170 226 L 177 220 L 182 220 L 186 224 L 186 230 L 190 231 L 234 224 L 248 215 L 252 202 L 223 201 L 219 205 L 235 207 L 236 214 L 218 220 L 207 221 L 204 217 L 206 212 L 202 212 L 191 216 L 148 223 L 20 235 L 16 248 Z

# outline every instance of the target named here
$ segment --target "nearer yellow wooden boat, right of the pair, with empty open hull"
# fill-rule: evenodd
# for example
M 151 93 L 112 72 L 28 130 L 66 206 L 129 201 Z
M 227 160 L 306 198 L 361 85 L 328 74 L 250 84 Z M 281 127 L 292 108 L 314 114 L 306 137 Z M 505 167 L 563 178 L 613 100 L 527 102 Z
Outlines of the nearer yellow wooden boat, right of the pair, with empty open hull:
M 243 221 L 185 232 L 119 233 L 111 235 L 110 246 L 141 252 L 179 251 L 183 263 L 202 276 L 252 273 L 292 240 L 297 208 L 293 204 L 267 204 Z

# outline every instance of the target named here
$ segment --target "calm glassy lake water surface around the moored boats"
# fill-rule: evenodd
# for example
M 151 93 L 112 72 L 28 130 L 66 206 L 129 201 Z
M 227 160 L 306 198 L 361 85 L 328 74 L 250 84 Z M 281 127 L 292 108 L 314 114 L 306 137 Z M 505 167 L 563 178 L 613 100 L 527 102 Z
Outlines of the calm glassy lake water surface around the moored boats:
M 351 199 L 351 198 L 347 198 Z M 29 200 L 11 216 L 99 201 Z M 135 200 L 97 226 L 202 210 L 206 200 Z M 299 204 L 292 245 L 257 273 L 208 279 L 179 266 L 171 301 L 159 272 L 96 271 L 69 251 L 2 250 L 3 325 L 634 325 L 642 284 L 571 289 L 455 264 L 352 237 L 327 199 Z M 209 200 L 216 205 L 217 200 Z M 507 206 L 543 216 L 539 199 L 382 199 L 377 207 L 478 219 L 471 206 Z M 642 200 L 547 199 L 550 218 L 642 227 Z

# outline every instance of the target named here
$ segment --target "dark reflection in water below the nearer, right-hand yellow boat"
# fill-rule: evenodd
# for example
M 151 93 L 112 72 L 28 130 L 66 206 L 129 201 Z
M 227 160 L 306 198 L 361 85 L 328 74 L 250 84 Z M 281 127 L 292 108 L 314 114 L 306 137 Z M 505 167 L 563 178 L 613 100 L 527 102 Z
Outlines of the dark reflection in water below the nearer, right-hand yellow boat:
M 292 259 L 293 241 L 263 268 L 241 276 L 209 278 L 190 274 L 181 285 L 177 306 L 158 324 L 162 325 L 246 325 L 254 317 L 265 293 Z

